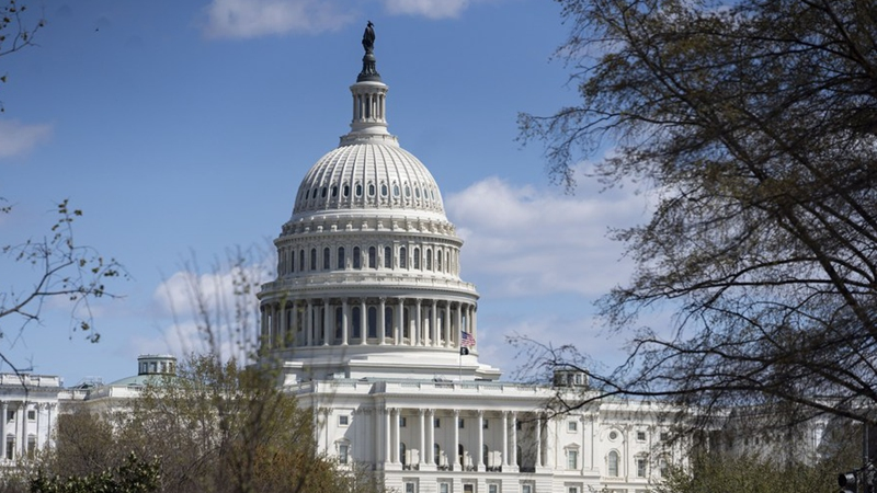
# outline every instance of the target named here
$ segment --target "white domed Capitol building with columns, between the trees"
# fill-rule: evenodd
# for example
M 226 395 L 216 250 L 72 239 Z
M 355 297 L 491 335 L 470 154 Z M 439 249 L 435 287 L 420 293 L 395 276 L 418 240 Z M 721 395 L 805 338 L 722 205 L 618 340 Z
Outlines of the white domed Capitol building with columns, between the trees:
M 479 360 L 463 241 L 426 167 L 388 131 L 369 32 L 351 130 L 301 180 L 259 294 L 262 353 L 315 410 L 320 451 L 405 493 L 645 491 L 680 458 L 660 410 L 551 415 L 557 392 L 586 392 L 583 375 L 522 385 Z

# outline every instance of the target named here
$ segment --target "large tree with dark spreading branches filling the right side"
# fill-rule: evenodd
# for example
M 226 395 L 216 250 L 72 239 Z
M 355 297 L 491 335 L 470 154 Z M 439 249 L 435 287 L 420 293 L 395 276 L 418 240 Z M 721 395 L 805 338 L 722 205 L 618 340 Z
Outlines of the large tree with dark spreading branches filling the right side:
M 877 4 L 560 3 L 581 101 L 521 115 L 522 138 L 569 190 L 594 158 L 591 177 L 653 194 L 614 231 L 636 272 L 599 306 L 616 331 L 675 313 L 592 381 L 702 415 L 877 423 Z

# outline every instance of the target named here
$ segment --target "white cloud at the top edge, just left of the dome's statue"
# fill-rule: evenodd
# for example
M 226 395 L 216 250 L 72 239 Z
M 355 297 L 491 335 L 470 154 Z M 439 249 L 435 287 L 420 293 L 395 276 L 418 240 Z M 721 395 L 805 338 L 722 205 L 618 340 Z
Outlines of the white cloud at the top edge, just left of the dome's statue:
M 217 38 L 320 33 L 356 19 L 353 9 L 324 0 L 213 0 L 205 13 L 204 32 Z

